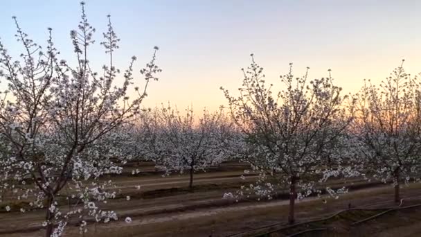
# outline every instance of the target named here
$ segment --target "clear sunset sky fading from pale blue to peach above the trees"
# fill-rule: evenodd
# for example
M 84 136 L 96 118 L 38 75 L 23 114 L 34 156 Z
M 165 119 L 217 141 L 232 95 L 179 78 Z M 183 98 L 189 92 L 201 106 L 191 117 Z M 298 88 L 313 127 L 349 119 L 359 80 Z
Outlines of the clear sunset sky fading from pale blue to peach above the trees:
M 405 59 L 411 74 L 421 72 L 421 1 L 249 1 L 249 0 L 86 0 L 89 22 L 97 32 L 89 51 L 100 71 L 107 55 L 99 42 L 111 15 L 120 37 L 116 66 L 125 69 L 132 55 L 141 69 L 159 46 L 159 81 L 148 90 L 145 106 L 215 110 L 226 105 L 220 91 L 233 94 L 242 84 L 250 53 L 265 68 L 268 82 L 280 84 L 289 62 L 302 76 L 332 76 L 346 93 L 363 79 L 380 82 Z M 77 28 L 77 0 L 0 1 L 0 38 L 12 53 L 21 52 L 12 16 L 35 42 L 45 45 L 47 30 L 62 58 L 74 58 L 69 32 Z M 135 83 L 143 85 L 140 75 Z M 4 85 L 0 84 L 0 87 Z

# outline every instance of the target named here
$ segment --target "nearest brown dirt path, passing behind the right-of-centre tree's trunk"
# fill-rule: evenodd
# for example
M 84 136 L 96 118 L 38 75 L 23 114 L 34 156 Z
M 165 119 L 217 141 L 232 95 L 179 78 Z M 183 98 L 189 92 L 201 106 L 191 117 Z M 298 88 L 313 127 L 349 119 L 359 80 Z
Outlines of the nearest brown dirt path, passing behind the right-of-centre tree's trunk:
M 421 190 L 419 186 L 410 186 L 402 189 L 402 195 L 413 200 L 418 199 L 421 196 Z M 296 216 L 298 220 L 302 221 L 307 220 L 310 216 L 325 216 L 334 211 L 346 209 L 349 203 L 353 207 L 390 207 L 393 205 L 392 198 L 393 190 L 390 186 L 355 191 L 343 195 L 339 200 L 328 200 L 328 204 L 323 204 L 316 198 L 308 198 L 298 202 Z M 200 197 L 198 199 L 200 200 Z M 159 200 L 151 201 L 159 202 Z M 132 223 L 127 224 L 124 222 L 124 218 L 133 211 L 136 212 L 131 208 L 127 211 L 120 211 L 121 220 L 118 222 L 111 222 L 108 225 L 91 225 L 88 236 L 209 236 L 210 234 L 226 236 L 262 225 L 285 221 L 287 204 L 288 202 L 285 200 L 246 202 L 234 204 L 231 207 L 201 208 L 176 213 L 135 216 L 132 217 Z M 130 205 L 132 206 L 132 202 Z M 145 211 L 144 207 L 138 211 L 141 210 Z M 42 232 L 7 236 L 37 236 L 37 234 L 41 235 Z M 68 227 L 66 236 L 78 236 L 78 229 Z

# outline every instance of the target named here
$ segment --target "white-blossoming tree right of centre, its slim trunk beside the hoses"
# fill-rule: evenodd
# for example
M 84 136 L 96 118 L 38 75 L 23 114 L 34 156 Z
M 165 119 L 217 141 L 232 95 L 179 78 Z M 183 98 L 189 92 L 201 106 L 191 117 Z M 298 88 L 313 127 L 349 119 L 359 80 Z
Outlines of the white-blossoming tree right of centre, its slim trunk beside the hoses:
M 229 102 L 235 123 L 246 135 L 249 146 L 245 159 L 260 172 L 263 184 L 251 186 L 260 195 L 271 198 L 276 186 L 289 186 L 289 222 L 294 222 L 294 202 L 297 197 L 316 191 L 317 175 L 324 182 L 332 172 L 326 166 L 326 148 L 341 134 L 350 118 L 341 107 L 341 88 L 332 78 L 309 81 L 307 73 L 294 78 L 292 66 L 280 80 L 286 87 L 273 94 L 265 84 L 263 68 L 251 55 L 251 65 L 243 69 L 240 96 L 231 96 L 222 88 Z M 308 72 L 308 70 L 307 70 Z M 272 177 L 268 181 L 269 177 Z M 328 191 L 332 191 L 328 189 Z

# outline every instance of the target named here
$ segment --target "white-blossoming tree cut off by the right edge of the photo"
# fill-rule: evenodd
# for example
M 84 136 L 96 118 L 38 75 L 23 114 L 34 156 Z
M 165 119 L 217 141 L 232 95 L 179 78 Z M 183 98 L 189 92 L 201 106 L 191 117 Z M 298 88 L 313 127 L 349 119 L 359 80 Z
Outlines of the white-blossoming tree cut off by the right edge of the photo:
M 353 149 L 364 164 L 367 177 L 393 181 L 395 202 L 400 183 L 420 180 L 421 104 L 420 82 L 405 73 L 403 62 L 381 85 L 365 82 L 355 95 L 352 123 Z

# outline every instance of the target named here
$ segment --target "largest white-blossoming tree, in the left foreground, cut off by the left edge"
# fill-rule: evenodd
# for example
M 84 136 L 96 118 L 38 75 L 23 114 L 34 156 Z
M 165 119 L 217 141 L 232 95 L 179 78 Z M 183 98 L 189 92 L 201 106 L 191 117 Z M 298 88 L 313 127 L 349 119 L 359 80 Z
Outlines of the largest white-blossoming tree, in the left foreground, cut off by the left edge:
M 155 74 L 161 71 L 155 64 L 156 48 L 141 70 L 144 89 L 131 89 L 136 58 L 123 75 L 116 69 L 114 53 L 119 40 L 108 16 L 101 44 L 109 61 L 101 76 L 94 72 L 89 46 L 95 29 L 87 20 L 84 3 L 81 6 L 78 30 L 70 35 L 75 64 L 60 60 L 51 28 L 43 51 L 15 17 L 17 41 L 24 49 L 21 61 L 13 60 L 0 43 L 0 78 L 8 82 L 0 100 L 0 146 L 5 148 L 1 152 L 0 195 L 3 202 L 28 200 L 30 207 L 22 212 L 45 209 L 46 236 L 60 236 L 71 218 L 80 223 L 82 231 L 87 225 L 84 216 L 104 222 L 117 218 L 114 211 L 100 208 L 101 202 L 116 194 L 107 191 L 110 181 L 99 178 L 121 170 L 120 164 L 111 161 L 118 152 L 104 138 L 138 113 L 148 83 L 157 80 Z M 118 76 L 124 79 L 120 86 L 114 82 Z M 13 195 L 6 195 L 10 189 Z

